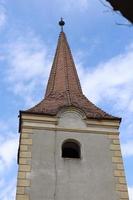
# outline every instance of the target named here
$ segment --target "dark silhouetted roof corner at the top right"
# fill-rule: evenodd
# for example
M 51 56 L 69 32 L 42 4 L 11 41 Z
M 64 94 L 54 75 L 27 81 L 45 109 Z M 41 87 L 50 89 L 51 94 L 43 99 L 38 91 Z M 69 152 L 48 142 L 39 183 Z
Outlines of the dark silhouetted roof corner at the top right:
M 111 4 L 114 11 L 120 13 L 133 24 L 133 0 L 106 0 Z

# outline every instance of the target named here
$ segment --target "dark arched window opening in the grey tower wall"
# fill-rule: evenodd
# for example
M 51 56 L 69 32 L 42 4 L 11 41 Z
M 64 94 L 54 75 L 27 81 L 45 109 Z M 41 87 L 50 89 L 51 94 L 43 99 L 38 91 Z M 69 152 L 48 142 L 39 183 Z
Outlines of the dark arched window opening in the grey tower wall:
M 76 140 L 66 140 L 62 145 L 63 158 L 80 158 L 80 144 Z

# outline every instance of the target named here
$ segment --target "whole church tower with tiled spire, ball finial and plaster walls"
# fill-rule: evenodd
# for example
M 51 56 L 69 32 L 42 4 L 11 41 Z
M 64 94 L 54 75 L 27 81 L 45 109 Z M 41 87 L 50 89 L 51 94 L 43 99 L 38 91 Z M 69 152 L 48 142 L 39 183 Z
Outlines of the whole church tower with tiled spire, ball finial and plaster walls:
M 19 115 L 16 200 L 128 200 L 121 118 L 84 96 L 59 24 L 45 97 Z

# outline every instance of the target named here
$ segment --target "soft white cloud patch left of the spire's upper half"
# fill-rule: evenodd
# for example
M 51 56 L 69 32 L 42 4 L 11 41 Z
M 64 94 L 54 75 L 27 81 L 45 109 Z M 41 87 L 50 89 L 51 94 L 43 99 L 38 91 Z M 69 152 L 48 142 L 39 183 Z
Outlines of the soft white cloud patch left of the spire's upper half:
M 9 48 L 9 62 L 12 65 L 9 73 L 12 81 L 27 81 L 36 78 L 42 72 L 45 75 L 47 52 L 40 41 L 37 41 L 36 38 L 18 38 L 15 43 L 9 45 Z

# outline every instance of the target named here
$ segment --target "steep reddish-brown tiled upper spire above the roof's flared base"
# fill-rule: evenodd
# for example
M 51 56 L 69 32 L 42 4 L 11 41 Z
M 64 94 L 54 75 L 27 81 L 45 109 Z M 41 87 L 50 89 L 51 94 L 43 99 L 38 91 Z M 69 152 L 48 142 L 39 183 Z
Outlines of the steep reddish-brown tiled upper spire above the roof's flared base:
M 71 101 L 70 94 L 82 94 L 82 89 L 65 33 L 61 31 L 45 97 L 64 92 Z

